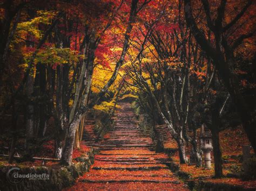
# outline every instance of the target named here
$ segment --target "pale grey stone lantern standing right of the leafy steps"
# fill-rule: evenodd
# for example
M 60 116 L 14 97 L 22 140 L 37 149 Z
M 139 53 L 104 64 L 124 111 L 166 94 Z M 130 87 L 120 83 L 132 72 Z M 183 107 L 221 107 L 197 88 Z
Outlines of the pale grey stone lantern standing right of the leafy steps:
M 204 152 L 205 168 L 211 168 L 212 135 L 208 129 L 203 130 L 199 137 L 203 143 L 201 150 Z

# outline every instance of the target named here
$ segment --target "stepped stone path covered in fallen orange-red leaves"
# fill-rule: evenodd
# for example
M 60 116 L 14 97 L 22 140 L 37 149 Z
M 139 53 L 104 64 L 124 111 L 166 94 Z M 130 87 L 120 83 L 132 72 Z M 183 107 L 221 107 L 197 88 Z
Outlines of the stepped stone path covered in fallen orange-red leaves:
M 140 131 L 129 103 L 119 103 L 114 128 L 95 146 L 95 164 L 70 190 L 157 189 L 186 190 L 166 166 L 164 153 L 150 151 L 152 140 Z M 89 142 L 92 144 L 92 142 Z

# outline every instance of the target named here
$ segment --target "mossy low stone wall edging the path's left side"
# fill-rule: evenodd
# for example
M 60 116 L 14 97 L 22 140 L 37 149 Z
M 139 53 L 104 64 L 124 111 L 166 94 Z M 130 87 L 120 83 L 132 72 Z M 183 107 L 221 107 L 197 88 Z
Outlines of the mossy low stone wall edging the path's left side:
M 94 155 L 97 149 L 91 148 L 86 157 L 78 157 L 71 166 L 0 166 L 0 190 L 62 190 L 65 187 L 72 186 L 76 179 L 89 171 L 94 162 Z M 20 174 L 49 174 L 49 180 L 28 180 L 24 179 L 17 185 L 11 185 L 6 177 L 9 169 L 13 167 L 20 168 Z

